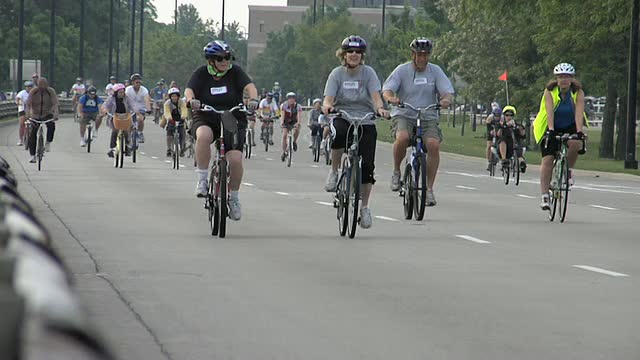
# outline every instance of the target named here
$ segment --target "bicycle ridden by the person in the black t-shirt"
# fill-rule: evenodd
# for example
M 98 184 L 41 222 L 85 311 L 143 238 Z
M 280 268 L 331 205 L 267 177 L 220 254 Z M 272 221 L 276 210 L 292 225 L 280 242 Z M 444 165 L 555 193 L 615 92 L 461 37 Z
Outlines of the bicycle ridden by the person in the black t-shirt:
M 204 208 L 208 210 L 211 235 L 221 238 L 226 236 L 227 217 L 229 216 L 229 164 L 226 159 L 226 147 L 224 143 L 225 128 L 235 134 L 238 131 L 238 122 L 233 112 L 240 111 L 245 114 L 250 112 L 243 104 L 230 110 L 219 111 L 214 107 L 202 104 L 199 111 L 212 111 L 220 114 L 220 137 L 215 140 L 215 156 L 211 171 L 209 172 L 209 191 L 205 196 Z M 231 144 L 230 144 L 231 145 Z M 231 148 L 231 146 L 229 146 Z

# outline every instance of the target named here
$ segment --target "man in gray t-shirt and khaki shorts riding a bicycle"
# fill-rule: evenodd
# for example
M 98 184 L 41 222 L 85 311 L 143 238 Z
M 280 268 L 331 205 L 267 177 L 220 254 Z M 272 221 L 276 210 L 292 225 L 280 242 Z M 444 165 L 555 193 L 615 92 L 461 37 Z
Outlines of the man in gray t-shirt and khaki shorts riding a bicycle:
M 382 87 L 385 100 L 393 105 L 401 101 L 417 108 L 424 108 L 439 101 L 446 108 L 451 103 L 454 93 L 453 85 L 438 66 L 429 63 L 433 42 L 425 38 L 417 38 L 411 42 L 411 62 L 407 62 L 393 70 Z M 440 100 L 438 100 L 438 98 Z M 406 155 L 409 140 L 415 131 L 415 112 L 407 108 L 395 107 L 391 111 L 393 118 L 393 175 L 391 190 L 400 190 L 400 164 Z M 438 165 L 440 163 L 440 142 L 442 131 L 438 127 L 438 112 L 429 111 L 424 114 L 427 121 L 422 122 L 422 138 L 427 150 L 427 206 L 436 205 L 433 195 Z

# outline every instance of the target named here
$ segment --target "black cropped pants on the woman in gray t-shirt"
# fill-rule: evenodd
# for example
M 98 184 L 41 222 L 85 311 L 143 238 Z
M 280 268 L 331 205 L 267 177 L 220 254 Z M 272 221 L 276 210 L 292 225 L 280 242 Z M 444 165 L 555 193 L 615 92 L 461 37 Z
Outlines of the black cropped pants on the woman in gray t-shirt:
M 332 149 L 344 149 L 353 142 L 353 127 L 349 126 L 349 122 L 342 118 L 333 119 L 332 132 L 335 130 Z M 347 134 L 348 131 L 348 134 Z M 378 140 L 378 130 L 375 125 L 363 125 L 360 127 L 360 146 L 358 148 L 360 157 L 362 158 L 362 183 L 374 184 L 375 160 L 376 160 L 376 141 Z M 347 136 L 349 143 L 347 144 Z

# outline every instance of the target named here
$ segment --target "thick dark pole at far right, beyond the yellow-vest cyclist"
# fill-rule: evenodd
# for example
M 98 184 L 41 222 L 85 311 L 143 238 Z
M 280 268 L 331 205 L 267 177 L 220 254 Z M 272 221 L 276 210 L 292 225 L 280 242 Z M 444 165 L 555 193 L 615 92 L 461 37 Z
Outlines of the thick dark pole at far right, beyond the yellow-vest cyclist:
M 636 160 L 636 96 L 638 94 L 638 15 L 640 0 L 632 0 L 631 40 L 629 42 L 629 91 L 627 100 L 627 143 L 624 160 L 625 169 L 637 169 Z

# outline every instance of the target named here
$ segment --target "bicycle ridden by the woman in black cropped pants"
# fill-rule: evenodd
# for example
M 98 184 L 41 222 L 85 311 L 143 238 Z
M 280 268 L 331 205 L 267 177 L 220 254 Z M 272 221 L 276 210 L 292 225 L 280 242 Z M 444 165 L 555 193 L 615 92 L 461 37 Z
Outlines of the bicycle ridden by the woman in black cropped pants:
M 356 228 L 358 227 L 359 211 L 360 211 L 360 186 L 362 185 L 362 167 L 360 164 L 360 127 L 363 121 L 369 120 L 375 116 L 374 113 L 367 113 L 361 118 L 352 117 L 344 110 L 340 110 L 336 116 L 344 116 L 349 120 L 349 128 L 347 134 L 353 129 L 353 140 L 349 145 L 349 136 L 347 135 L 347 156 L 343 157 L 342 168 L 338 176 L 338 186 L 333 200 L 333 207 L 337 209 L 338 230 L 340 236 L 348 233 L 349 238 L 356 236 Z

